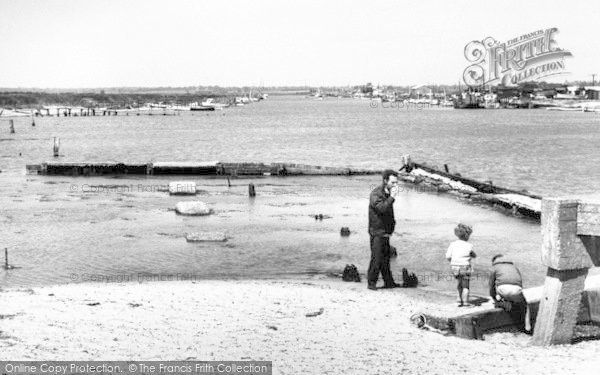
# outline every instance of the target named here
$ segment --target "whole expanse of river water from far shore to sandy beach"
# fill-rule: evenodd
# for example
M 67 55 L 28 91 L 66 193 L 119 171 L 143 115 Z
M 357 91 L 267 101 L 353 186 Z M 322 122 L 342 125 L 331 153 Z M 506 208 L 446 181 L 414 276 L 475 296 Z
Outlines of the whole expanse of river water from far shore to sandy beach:
M 181 116 L 16 118 L 0 122 L 1 286 L 156 279 L 285 278 L 364 273 L 367 202 L 378 176 L 192 177 L 210 217 L 173 212 L 171 177 L 31 176 L 25 165 L 60 161 L 256 161 L 397 168 L 401 156 L 543 196 L 598 198 L 600 117 L 544 110 L 382 108 L 351 99 L 273 97 L 247 107 Z M 387 106 L 387 105 L 386 105 Z M 374 108 L 376 107 L 376 108 Z M 247 197 L 253 182 L 258 196 Z M 485 292 L 489 258 L 511 256 L 528 286 L 543 282 L 539 224 L 449 195 L 405 186 L 392 239 L 401 267 L 453 290 L 444 252 L 459 221 L 474 227 L 474 289 Z M 326 219 L 316 221 L 315 214 Z M 340 237 L 348 226 L 350 237 Z M 225 243 L 187 243 L 185 233 L 224 231 Z M 398 277 L 399 278 L 399 277 Z

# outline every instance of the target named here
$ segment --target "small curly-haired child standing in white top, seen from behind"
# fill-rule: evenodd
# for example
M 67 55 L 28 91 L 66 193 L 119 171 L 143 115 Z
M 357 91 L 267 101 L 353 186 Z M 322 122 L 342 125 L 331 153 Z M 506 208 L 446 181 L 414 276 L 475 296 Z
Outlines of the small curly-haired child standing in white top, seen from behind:
M 454 228 L 454 234 L 458 237 L 458 240 L 452 242 L 446 252 L 446 259 L 450 262 L 452 274 L 458 282 L 456 286 L 458 290 L 458 306 L 470 305 L 469 283 L 471 272 L 473 271 L 471 260 L 477 256 L 473 252 L 473 245 L 467 242 L 469 237 L 471 237 L 471 233 L 473 233 L 473 228 L 470 225 L 458 224 Z

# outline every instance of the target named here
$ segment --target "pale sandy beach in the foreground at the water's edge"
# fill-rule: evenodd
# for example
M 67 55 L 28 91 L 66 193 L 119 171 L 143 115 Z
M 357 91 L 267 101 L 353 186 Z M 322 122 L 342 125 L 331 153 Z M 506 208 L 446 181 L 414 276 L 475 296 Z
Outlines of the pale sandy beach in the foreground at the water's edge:
M 0 293 L 0 360 L 268 360 L 275 374 L 562 374 L 600 365 L 600 341 L 540 348 L 516 332 L 472 341 L 418 329 L 410 316 L 439 306 L 425 295 L 331 279 L 9 289 Z

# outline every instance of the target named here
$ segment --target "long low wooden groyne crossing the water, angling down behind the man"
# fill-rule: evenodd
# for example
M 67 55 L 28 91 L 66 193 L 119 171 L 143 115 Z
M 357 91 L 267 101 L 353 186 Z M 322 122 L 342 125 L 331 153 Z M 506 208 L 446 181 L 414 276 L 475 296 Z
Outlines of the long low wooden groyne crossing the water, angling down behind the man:
M 440 171 L 424 164 L 412 163 L 405 156 L 400 179 L 426 187 L 434 193 L 450 193 L 472 201 L 484 202 L 508 210 L 513 215 L 540 218 L 541 197 L 479 182 Z M 194 175 L 194 176 L 352 176 L 375 175 L 378 169 L 340 168 L 295 163 L 236 163 L 236 162 L 152 162 L 152 163 L 69 163 L 45 162 L 27 165 L 29 174 L 63 176 L 101 175 Z

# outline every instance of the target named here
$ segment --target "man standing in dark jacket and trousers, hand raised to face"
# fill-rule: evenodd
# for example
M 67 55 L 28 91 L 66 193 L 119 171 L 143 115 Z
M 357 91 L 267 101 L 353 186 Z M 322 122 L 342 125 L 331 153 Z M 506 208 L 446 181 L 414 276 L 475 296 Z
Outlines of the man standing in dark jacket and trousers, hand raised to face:
M 398 192 L 398 173 L 383 171 L 383 184 L 371 192 L 369 199 L 369 235 L 371 236 L 371 262 L 367 274 L 368 288 L 377 290 L 376 284 L 381 272 L 384 288 L 395 288 L 390 270 L 390 236 L 394 233 L 394 196 Z

